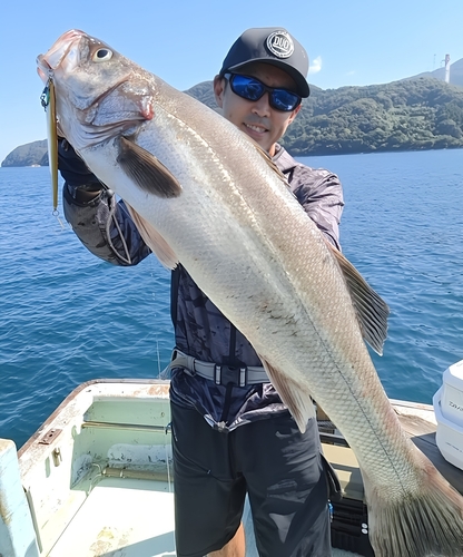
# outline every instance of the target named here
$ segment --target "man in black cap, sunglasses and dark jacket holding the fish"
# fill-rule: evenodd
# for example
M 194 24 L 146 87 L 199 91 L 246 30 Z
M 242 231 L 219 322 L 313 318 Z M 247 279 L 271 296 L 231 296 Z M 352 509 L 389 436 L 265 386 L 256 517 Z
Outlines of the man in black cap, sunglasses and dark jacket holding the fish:
M 225 118 L 265 149 L 326 238 L 339 247 L 337 177 L 292 158 L 277 141 L 308 97 L 308 59 L 282 28 L 249 29 L 214 79 Z M 119 265 L 149 254 L 124 202 L 115 204 L 60 144 L 67 219 L 96 255 Z M 171 420 L 179 557 L 245 557 L 245 496 L 262 557 L 331 555 L 325 466 L 315 420 L 302 434 L 249 342 L 181 265 L 173 272 Z M 239 371 L 246 369 L 246 377 Z

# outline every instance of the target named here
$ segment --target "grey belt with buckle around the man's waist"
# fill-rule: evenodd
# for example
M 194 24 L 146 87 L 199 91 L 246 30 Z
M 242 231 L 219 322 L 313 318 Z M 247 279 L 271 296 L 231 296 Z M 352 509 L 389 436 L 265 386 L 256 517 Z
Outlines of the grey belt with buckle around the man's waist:
M 177 349 L 173 352 L 169 368 L 183 368 L 186 373 L 193 377 L 199 375 L 223 385 L 233 383 L 238 387 L 246 387 L 247 384 L 270 382 L 262 365 L 219 365 L 214 362 L 196 360 L 196 358 L 184 354 Z

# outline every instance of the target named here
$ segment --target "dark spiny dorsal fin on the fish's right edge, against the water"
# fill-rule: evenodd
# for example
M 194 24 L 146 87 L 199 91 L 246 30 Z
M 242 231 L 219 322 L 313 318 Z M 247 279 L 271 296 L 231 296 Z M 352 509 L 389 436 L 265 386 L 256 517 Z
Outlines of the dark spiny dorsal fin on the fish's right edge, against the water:
M 336 247 L 329 242 L 326 242 L 326 245 L 339 264 L 341 272 L 347 283 L 363 339 L 375 352 L 382 355 L 384 341 L 387 336 L 388 305 Z

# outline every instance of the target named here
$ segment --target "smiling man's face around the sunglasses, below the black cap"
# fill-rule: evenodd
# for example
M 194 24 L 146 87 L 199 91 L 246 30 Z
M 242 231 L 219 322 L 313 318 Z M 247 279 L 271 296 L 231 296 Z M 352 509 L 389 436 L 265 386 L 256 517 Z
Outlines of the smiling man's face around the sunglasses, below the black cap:
M 246 70 L 237 71 L 239 72 L 255 77 L 268 87 L 295 90 L 293 78 L 269 63 L 254 62 L 246 66 Z M 267 91 L 258 100 L 238 97 L 227 80 L 218 76 L 214 79 L 214 92 L 225 118 L 257 141 L 270 156 L 275 155 L 275 143 L 284 135 L 301 109 L 301 105 L 290 113 L 272 108 Z

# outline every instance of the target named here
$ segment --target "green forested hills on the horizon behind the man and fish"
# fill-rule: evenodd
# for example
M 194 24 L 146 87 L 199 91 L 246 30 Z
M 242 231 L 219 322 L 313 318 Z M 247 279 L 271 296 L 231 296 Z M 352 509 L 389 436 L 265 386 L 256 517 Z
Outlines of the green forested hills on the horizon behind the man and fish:
M 186 92 L 216 108 L 211 81 Z M 311 86 L 282 144 L 294 156 L 463 147 L 463 87 L 427 76 L 366 87 Z M 2 166 L 47 164 L 42 140 L 17 147 Z

